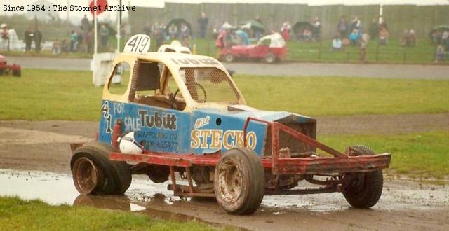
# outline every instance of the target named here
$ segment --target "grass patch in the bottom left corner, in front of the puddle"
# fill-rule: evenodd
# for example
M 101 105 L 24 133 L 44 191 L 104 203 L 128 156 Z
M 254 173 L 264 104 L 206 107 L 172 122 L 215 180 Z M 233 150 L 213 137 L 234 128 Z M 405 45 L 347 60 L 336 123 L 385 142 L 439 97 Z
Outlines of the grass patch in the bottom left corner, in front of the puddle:
M 215 230 L 190 221 L 161 221 L 93 207 L 51 206 L 40 200 L 0 197 L 1 230 Z

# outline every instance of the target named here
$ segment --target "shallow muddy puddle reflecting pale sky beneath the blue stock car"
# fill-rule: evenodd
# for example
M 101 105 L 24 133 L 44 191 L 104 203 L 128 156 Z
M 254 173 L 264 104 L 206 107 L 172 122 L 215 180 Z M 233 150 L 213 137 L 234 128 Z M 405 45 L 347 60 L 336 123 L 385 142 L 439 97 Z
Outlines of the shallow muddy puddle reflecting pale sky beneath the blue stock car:
M 195 216 L 187 216 L 182 209 L 222 210 L 214 200 L 192 200 L 174 197 L 167 190 L 168 182 L 152 183 L 146 177 L 133 179 L 125 196 L 81 196 L 74 188 L 72 176 L 48 172 L 22 172 L 0 170 L 0 195 L 17 195 L 22 199 L 40 199 L 49 204 L 88 205 L 103 209 L 137 211 L 154 218 L 178 221 L 201 221 Z M 444 209 L 449 206 L 449 187 L 436 186 L 411 181 L 387 181 L 380 202 L 374 210 L 402 211 L 404 209 Z M 261 211 L 273 215 L 288 211 L 314 213 L 342 211 L 349 204 L 341 193 L 319 195 L 278 195 L 266 196 Z M 178 211 L 178 212 L 173 212 Z

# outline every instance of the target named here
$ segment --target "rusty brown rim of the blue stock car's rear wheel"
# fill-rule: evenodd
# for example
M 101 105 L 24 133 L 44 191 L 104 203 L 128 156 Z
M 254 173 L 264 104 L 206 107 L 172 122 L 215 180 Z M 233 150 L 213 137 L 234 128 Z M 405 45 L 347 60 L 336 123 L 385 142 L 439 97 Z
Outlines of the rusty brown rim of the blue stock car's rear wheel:
M 74 163 L 73 176 L 76 189 L 82 195 L 88 195 L 98 185 L 98 169 L 86 157 L 81 157 Z

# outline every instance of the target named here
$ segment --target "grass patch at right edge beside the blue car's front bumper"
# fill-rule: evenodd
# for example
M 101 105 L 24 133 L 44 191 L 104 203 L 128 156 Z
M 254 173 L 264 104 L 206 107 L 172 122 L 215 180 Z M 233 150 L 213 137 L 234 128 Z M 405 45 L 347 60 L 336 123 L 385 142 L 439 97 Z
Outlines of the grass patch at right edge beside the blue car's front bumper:
M 444 179 L 449 174 L 449 132 L 413 134 L 366 134 L 320 136 L 328 146 L 344 151 L 349 145 L 364 144 L 376 153 L 391 153 L 387 173 L 415 178 Z

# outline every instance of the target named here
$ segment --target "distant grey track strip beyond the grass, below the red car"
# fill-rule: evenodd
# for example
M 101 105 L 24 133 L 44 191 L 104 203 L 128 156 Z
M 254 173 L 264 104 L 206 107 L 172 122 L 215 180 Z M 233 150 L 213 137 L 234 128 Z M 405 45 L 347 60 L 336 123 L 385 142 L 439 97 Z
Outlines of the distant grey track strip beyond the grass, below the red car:
M 91 59 L 64 59 L 52 57 L 8 57 L 9 63 L 25 68 L 89 70 Z M 322 64 L 281 62 L 263 64 L 257 62 L 225 63 L 238 74 L 269 76 L 343 76 L 362 78 L 422 78 L 449 79 L 448 65 L 406 64 Z

